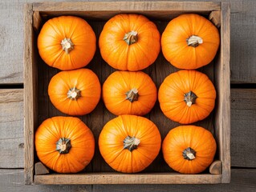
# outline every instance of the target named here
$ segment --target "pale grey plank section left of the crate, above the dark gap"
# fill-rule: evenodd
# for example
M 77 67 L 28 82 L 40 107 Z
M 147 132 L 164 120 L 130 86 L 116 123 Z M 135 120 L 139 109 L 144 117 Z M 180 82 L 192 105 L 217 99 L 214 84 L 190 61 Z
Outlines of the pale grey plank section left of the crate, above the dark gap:
M 0 2 L 0 84 L 22 83 L 22 2 Z

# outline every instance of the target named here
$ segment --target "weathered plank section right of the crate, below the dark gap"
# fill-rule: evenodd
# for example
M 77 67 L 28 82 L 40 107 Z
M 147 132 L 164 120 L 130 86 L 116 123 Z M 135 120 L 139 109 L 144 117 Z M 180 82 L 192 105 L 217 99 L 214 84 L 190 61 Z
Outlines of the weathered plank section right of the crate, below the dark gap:
M 256 89 L 231 90 L 231 165 L 256 167 Z

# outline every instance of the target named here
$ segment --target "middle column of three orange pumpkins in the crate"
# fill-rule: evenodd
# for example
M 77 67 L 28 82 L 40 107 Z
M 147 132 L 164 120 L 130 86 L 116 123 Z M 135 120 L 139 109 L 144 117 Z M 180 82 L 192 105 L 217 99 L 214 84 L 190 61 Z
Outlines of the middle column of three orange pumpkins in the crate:
M 100 154 L 114 170 L 136 173 L 148 167 L 161 149 L 161 134 L 148 114 L 156 102 L 152 78 L 141 70 L 155 62 L 161 50 L 156 25 L 141 14 L 117 14 L 100 33 L 100 54 L 116 69 L 104 82 L 102 98 L 117 118 L 99 137 Z

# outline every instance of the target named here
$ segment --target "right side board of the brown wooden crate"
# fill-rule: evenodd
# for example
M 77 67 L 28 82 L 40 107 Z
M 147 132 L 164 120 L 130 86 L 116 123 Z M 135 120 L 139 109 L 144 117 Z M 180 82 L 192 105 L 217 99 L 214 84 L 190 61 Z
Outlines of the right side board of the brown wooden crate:
M 230 4 L 221 5 L 221 54 L 215 63 L 215 133 L 219 159 L 222 162 L 222 183 L 230 182 Z

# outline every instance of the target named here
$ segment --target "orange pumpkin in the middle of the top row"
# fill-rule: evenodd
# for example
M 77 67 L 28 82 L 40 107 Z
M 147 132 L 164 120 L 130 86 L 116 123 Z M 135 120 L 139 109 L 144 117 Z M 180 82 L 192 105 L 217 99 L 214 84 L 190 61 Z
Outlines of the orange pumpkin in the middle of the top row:
M 156 25 L 140 14 L 117 14 L 100 34 L 100 54 L 118 70 L 143 70 L 155 62 L 161 34 Z

